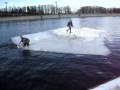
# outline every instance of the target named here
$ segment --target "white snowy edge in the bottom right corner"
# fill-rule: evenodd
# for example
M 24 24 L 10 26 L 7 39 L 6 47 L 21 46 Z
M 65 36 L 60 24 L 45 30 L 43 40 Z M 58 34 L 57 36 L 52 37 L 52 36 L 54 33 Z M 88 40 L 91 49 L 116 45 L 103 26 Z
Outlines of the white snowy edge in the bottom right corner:
M 120 77 L 89 90 L 120 90 Z

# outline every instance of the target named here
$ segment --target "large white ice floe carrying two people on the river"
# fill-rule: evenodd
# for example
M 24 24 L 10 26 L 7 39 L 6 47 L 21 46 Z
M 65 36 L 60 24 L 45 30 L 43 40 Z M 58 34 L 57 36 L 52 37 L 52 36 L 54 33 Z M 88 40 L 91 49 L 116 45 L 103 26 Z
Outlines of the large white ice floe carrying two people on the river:
M 108 55 L 110 50 L 104 45 L 105 31 L 90 28 L 68 28 L 23 35 L 30 39 L 29 50 L 57 53 Z M 12 42 L 18 44 L 20 37 L 13 37 Z M 26 49 L 26 48 L 22 48 Z

